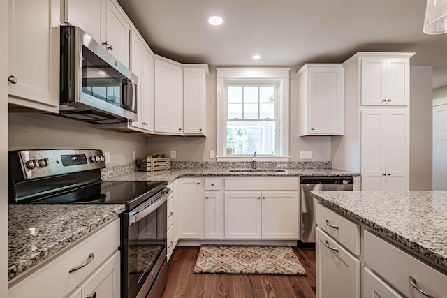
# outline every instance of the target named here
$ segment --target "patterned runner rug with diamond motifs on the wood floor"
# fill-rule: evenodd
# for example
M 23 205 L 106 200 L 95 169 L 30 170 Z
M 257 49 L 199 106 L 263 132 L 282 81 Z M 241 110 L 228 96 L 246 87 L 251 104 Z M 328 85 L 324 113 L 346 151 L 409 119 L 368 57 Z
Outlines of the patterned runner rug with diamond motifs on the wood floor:
M 194 273 L 306 275 L 289 246 L 203 245 Z

